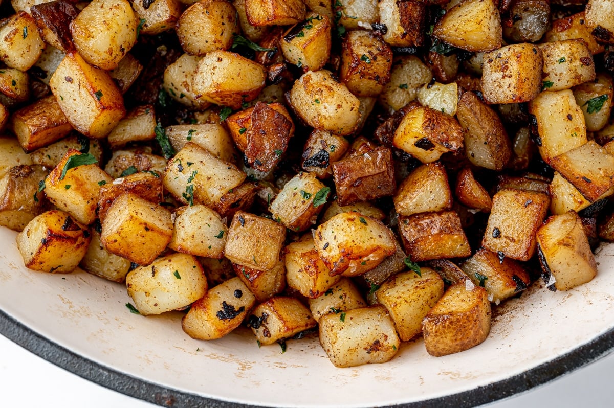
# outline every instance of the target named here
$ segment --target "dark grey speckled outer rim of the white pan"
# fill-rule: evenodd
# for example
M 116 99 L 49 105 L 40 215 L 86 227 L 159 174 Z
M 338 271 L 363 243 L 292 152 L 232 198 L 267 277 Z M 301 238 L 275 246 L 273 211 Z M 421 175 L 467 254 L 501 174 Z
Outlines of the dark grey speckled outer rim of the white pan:
M 198 395 L 162 387 L 128 374 L 115 371 L 62 347 L 41 336 L 32 329 L 10 317 L 0 310 L 0 334 L 44 358 L 50 363 L 90 380 L 98 385 L 117 391 L 133 398 L 142 399 L 164 407 L 176 408 L 231 408 L 247 407 L 234 402 L 217 401 Z M 614 329 L 601 334 L 587 344 L 581 345 L 548 363 L 529 369 L 522 374 L 491 383 L 474 390 L 463 391 L 454 395 L 429 399 L 410 404 L 401 404 L 396 408 L 462 408 L 475 407 L 499 399 L 510 398 L 531 388 L 543 385 L 563 374 L 602 358 L 614 350 Z

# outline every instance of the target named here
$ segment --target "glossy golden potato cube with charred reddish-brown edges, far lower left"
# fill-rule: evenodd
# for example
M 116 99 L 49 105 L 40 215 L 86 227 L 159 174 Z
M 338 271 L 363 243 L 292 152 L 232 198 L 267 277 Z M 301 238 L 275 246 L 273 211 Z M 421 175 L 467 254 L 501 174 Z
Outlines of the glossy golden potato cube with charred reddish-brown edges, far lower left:
M 67 212 L 50 210 L 37 215 L 17 234 L 17 249 L 26 268 L 69 273 L 90 244 L 90 231 Z

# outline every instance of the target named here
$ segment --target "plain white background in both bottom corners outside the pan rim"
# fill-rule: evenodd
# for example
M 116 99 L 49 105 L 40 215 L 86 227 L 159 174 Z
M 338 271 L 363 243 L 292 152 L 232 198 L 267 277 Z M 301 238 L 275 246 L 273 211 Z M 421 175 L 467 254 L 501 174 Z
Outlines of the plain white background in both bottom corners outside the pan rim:
M 489 408 L 613 407 L 614 353 Z M 0 336 L 0 406 L 153 408 L 64 371 Z

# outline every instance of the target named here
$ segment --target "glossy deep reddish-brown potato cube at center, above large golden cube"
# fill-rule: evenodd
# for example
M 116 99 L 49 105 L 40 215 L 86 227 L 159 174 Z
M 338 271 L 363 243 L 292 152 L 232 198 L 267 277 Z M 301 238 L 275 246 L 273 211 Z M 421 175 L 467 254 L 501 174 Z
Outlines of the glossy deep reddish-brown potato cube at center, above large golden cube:
M 392 151 L 387 147 L 336 161 L 332 168 L 341 206 L 391 196 L 397 187 Z

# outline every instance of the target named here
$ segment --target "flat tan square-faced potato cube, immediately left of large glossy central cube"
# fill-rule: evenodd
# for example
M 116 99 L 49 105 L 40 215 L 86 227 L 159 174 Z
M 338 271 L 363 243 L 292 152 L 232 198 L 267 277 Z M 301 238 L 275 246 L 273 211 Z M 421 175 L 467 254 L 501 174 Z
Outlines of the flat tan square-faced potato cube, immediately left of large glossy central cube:
M 268 218 L 239 211 L 233 217 L 224 248 L 233 263 L 270 271 L 279 262 L 286 228 Z

